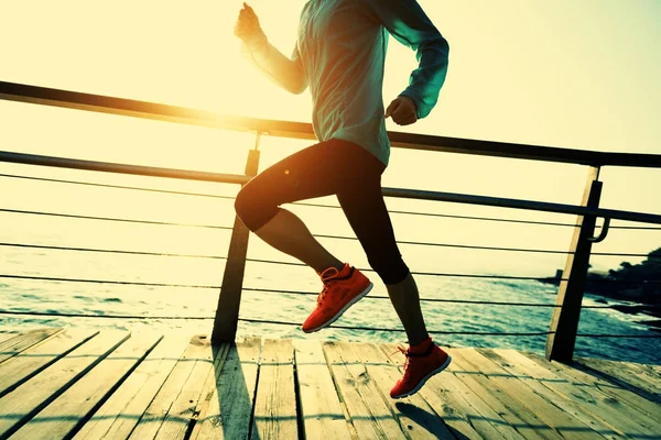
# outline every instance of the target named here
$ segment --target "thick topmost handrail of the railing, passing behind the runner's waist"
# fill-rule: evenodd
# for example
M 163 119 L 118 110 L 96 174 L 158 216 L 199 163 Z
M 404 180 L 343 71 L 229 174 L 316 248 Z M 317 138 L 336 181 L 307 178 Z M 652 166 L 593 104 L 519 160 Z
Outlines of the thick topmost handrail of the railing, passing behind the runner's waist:
M 219 116 L 210 111 L 185 107 L 29 86 L 17 82 L 0 81 L 0 99 L 155 119 L 192 125 L 212 127 L 224 130 L 259 132 L 274 136 L 305 139 L 311 141 L 315 139 L 312 124 L 310 123 Z M 653 154 L 592 152 L 402 132 L 389 132 L 388 134 L 393 146 L 404 148 L 592 166 L 661 167 L 661 155 Z

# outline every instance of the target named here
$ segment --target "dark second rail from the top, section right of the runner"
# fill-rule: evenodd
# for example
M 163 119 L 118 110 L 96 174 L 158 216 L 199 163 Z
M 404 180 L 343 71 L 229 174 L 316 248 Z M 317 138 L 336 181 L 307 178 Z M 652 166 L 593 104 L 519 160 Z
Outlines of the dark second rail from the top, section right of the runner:
M 497 208 L 514 208 L 542 212 L 594 216 L 616 220 L 661 224 L 661 216 L 653 213 L 629 212 L 604 208 L 595 209 L 573 205 L 551 204 L 545 201 L 519 200 L 501 197 L 474 196 L 466 194 L 441 193 L 404 188 L 383 188 L 383 195 L 387 197 L 399 197 L 407 199 L 449 201 L 454 204 L 480 205 Z

